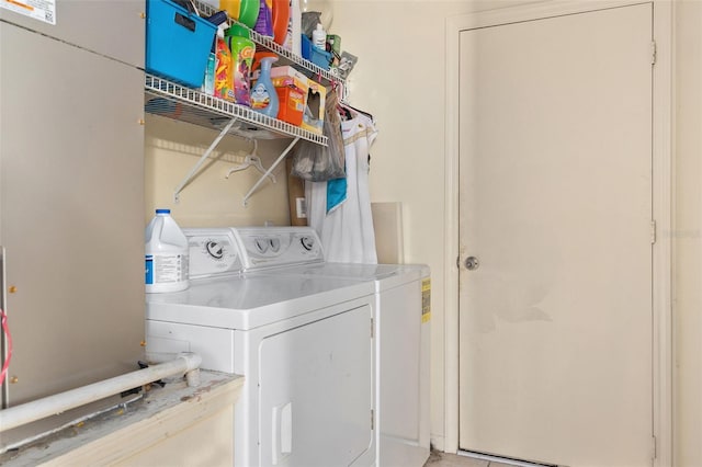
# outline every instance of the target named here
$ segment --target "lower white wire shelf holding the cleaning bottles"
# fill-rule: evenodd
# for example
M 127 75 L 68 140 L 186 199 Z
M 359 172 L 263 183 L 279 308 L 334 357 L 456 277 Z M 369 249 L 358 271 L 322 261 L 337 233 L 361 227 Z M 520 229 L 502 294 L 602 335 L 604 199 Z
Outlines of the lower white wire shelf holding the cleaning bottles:
M 228 133 L 250 139 L 302 138 L 327 146 L 327 137 L 271 118 L 247 106 L 204 94 L 172 81 L 146 75 L 147 113 L 222 130 L 233 118 Z

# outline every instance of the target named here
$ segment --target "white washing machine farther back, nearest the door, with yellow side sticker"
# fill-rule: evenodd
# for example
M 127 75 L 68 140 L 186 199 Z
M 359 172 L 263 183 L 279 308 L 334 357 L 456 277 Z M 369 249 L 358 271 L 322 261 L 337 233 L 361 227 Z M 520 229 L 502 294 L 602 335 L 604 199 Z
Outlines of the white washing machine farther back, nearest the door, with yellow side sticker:
M 430 280 L 426 265 L 326 263 L 321 250 L 306 261 L 285 260 L 272 248 L 285 242 L 291 228 L 235 228 L 248 274 L 341 278 L 373 284 L 376 407 L 376 464 L 421 467 L 429 457 Z M 315 239 L 310 228 L 294 228 Z M 280 261 L 279 261 L 280 259 Z M 279 267 L 278 264 L 285 264 Z

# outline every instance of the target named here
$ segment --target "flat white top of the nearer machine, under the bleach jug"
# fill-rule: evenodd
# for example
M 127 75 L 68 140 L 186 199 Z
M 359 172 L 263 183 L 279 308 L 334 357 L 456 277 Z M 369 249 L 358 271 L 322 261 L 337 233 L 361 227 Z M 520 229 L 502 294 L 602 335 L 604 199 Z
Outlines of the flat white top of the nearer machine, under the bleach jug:
M 362 297 L 372 282 L 339 277 L 251 275 L 192 281 L 188 289 L 147 294 L 151 320 L 249 330 Z

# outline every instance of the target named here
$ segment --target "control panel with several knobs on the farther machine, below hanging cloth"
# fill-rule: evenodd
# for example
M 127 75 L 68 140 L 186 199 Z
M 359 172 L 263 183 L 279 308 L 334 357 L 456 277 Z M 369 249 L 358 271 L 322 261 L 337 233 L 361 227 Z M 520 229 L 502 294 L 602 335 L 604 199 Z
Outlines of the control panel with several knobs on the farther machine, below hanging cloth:
M 322 262 L 319 236 L 312 227 L 234 227 L 245 271 Z

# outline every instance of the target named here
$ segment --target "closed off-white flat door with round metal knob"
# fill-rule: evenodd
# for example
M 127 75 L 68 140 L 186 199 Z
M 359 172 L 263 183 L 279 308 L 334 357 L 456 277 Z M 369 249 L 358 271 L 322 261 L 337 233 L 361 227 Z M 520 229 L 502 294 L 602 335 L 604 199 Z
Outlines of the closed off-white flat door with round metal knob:
M 652 20 L 461 33 L 462 449 L 652 463 Z

